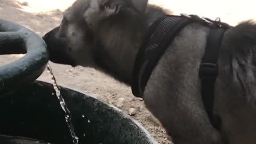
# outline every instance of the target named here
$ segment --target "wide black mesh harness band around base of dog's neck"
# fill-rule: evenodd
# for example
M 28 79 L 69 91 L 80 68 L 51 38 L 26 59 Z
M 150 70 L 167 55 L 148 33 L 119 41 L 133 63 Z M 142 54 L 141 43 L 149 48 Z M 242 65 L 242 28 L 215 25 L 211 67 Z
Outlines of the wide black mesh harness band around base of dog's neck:
M 177 33 L 193 19 L 165 15 L 149 28 L 134 62 L 132 93 L 142 97 L 151 72 Z M 145 73 L 146 71 L 146 73 Z

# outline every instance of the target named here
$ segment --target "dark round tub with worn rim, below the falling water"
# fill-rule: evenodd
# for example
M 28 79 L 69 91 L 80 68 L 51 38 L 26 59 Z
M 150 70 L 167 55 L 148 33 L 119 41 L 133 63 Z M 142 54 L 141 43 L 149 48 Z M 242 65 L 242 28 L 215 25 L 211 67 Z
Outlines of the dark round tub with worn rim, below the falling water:
M 1 98 L 0 134 L 72 143 L 65 114 L 53 93 L 52 84 L 35 81 Z M 61 87 L 61 94 L 80 144 L 157 144 L 118 108 L 65 87 Z

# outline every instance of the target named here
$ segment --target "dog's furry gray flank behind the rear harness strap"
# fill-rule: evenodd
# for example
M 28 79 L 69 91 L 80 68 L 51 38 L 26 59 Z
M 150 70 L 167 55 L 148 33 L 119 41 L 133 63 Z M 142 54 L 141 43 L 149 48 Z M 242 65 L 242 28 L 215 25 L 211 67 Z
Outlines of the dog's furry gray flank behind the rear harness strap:
M 225 34 L 219 58 L 217 112 L 230 143 L 256 143 L 256 25 L 246 21 Z

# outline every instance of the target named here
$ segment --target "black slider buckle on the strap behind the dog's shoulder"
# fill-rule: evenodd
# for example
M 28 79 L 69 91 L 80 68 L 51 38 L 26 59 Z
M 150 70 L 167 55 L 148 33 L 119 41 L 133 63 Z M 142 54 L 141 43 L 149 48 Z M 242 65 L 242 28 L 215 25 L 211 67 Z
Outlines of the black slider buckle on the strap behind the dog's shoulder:
M 199 78 L 215 79 L 218 76 L 218 65 L 215 63 L 201 63 L 199 67 Z

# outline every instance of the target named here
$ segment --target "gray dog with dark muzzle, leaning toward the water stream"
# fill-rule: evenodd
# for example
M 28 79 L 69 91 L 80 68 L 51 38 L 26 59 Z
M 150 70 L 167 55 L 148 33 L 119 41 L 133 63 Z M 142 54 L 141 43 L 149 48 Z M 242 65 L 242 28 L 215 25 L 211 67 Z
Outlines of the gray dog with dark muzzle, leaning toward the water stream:
M 43 38 L 52 62 L 99 69 L 131 85 L 142 39 L 167 13 L 147 0 L 77 0 Z M 151 73 L 143 99 L 175 144 L 255 144 L 256 25 L 245 21 L 223 36 L 214 101 L 220 131 L 207 116 L 198 77 L 209 31 L 198 23 L 180 31 Z

